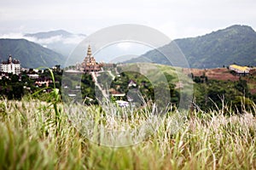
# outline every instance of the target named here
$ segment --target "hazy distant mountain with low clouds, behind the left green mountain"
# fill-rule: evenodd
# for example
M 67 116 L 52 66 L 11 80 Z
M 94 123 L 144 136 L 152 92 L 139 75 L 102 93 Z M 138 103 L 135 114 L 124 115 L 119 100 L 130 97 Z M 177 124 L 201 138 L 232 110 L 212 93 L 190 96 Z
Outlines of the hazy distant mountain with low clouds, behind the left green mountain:
M 86 37 L 84 34 L 73 34 L 64 30 L 29 33 L 24 36 L 26 39 L 50 48 L 65 57 L 68 57 L 79 42 Z

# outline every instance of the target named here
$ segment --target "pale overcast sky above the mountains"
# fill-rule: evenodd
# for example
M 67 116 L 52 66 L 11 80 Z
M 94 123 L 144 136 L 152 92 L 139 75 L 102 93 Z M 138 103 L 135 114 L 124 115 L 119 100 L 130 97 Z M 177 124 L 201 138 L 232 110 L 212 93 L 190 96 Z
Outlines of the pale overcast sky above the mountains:
M 63 29 L 90 35 L 119 24 L 150 26 L 171 39 L 235 24 L 256 29 L 255 0 L 9 0 L 0 2 L 0 35 Z

